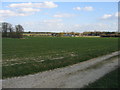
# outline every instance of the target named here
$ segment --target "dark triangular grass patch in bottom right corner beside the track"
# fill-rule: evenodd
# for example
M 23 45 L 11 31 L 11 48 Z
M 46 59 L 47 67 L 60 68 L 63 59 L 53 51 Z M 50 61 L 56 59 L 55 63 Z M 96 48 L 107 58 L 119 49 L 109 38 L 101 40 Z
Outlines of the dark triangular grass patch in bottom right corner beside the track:
M 119 69 L 116 69 L 85 88 L 119 88 Z

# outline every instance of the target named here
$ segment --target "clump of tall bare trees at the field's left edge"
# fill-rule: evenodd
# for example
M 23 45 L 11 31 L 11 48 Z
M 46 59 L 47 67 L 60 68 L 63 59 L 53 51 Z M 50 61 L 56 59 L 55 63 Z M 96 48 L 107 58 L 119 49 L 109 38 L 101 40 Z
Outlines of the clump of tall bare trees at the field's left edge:
M 3 22 L 1 23 L 1 30 L 2 30 L 2 37 L 8 38 L 22 38 L 24 28 L 22 25 L 15 25 L 14 27 L 12 24 Z

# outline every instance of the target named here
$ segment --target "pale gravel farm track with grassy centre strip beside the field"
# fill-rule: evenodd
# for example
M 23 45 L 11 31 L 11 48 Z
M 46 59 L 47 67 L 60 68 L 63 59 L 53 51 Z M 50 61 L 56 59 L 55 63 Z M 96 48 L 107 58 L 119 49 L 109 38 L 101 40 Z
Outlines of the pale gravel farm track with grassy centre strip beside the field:
M 2 80 L 3 88 L 82 88 L 118 67 L 118 55 L 90 59 L 75 65 L 49 70 L 34 75 Z

